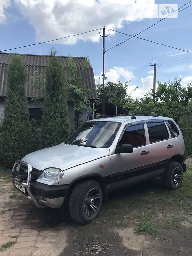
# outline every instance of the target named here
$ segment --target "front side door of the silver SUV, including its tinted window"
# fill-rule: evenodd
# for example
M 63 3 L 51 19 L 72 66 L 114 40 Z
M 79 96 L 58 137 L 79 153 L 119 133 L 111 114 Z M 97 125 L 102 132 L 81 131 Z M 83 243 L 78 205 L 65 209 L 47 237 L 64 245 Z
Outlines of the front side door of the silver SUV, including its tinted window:
M 118 142 L 131 144 L 133 152 L 130 154 L 117 153 L 111 155 L 112 189 L 137 183 L 148 179 L 147 168 L 142 168 L 150 163 L 149 145 L 146 145 L 144 122 L 128 125 Z

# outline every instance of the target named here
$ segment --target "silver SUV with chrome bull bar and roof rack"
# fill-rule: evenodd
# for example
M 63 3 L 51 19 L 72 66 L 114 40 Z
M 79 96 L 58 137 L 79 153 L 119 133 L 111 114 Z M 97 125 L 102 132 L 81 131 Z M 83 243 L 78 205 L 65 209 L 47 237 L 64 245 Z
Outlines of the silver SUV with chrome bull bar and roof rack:
M 116 116 L 82 124 L 56 146 L 17 160 L 11 172 L 14 188 L 37 207 L 69 204 L 80 223 L 95 219 L 108 193 L 161 177 L 177 189 L 186 171 L 184 141 L 173 119 Z

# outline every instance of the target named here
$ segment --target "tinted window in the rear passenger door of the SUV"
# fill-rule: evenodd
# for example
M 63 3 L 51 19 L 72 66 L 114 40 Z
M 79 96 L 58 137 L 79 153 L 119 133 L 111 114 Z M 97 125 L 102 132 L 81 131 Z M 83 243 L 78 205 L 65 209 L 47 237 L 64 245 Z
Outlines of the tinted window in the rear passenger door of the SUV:
M 150 143 L 169 139 L 169 134 L 164 122 L 147 123 Z

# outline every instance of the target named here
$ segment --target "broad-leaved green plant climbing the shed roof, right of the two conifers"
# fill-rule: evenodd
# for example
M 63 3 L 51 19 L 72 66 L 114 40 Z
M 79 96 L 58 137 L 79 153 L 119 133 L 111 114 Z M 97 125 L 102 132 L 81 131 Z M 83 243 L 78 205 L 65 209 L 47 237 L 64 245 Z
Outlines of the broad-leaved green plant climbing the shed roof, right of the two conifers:
M 83 112 L 88 112 L 90 101 L 87 97 L 88 92 L 92 92 L 92 89 L 87 89 L 86 86 L 81 85 L 83 77 L 77 74 L 76 63 L 71 56 L 68 57 L 70 78 L 68 79 L 68 99 L 74 104 L 74 121 L 76 128 L 82 123 L 81 116 Z M 82 68 L 82 72 L 85 72 L 89 66 L 89 59 L 86 58 Z M 93 110 L 92 110 L 93 111 Z

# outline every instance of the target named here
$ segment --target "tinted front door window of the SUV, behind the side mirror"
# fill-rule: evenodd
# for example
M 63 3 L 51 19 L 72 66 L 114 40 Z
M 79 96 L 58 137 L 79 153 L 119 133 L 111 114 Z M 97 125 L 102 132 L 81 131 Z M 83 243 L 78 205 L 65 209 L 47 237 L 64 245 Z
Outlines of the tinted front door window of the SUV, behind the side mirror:
M 120 140 L 120 146 L 122 144 L 131 144 L 133 148 L 146 145 L 145 130 L 143 124 L 137 124 L 127 127 Z

